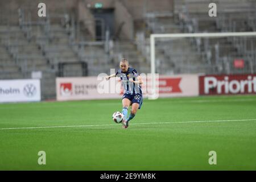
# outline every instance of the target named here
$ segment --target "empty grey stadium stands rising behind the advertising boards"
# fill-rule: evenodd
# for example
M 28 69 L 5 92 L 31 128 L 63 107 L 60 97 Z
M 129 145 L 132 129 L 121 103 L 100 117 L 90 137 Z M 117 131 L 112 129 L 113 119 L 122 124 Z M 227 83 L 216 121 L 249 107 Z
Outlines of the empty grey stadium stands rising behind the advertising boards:
M 210 2 L 220 7 L 216 18 L 202 16 L 208 14 Z M 64 76 L 109 73 L 122 57 L 139 72 L 150 72 L 152 33 L 256 31 L 256 3 L 250 0 L 104 1 L 104 9 L 114 17 L 113 30 L 94 1 L 46 1 L 46 18 L 36 16 L 38 3 L 0 2 L 0 79 L 31 78 L 40 71 L 44 100 L 55 98 L 62 63 L 73 63 Z M 247 38 L 167 39 L 156 42 L 156 71 L 254 73 L 255 47 L 256 40 Z M 234 68 L 234 59 L 244 60 L 245 67 Z M 83 72 L 77 63 L 86 63 L 88 70 Z

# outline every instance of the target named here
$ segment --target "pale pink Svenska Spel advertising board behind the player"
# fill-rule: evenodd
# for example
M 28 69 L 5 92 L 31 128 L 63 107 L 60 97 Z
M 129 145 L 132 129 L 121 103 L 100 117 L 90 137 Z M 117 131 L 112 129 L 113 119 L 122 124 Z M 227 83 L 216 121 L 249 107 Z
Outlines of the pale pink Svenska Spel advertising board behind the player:
M 142 79 L 143 96 L 147 98 L 151 91 L 150 77 Z M 198 75 L 159 76 L 159 97 L 199 96 L 198 88 Z M 109 81 L 100 77 L 56 78 L 57 101 L 112 99 L 122 95 L 119 78 Z

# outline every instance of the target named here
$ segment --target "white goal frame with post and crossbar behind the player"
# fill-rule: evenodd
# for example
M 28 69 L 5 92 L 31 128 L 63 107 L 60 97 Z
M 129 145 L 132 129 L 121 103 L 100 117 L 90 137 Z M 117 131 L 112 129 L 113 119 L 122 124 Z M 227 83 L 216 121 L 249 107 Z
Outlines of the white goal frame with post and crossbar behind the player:
M 225 38 L 229 36 L 255 36 L 256 32 L 214 32 L 192 34 L 151 34 L 150 35 L 150 59 L 151 59 L 151 99 L 156 99 L 155 89 L 155 39 L 156 38 Z

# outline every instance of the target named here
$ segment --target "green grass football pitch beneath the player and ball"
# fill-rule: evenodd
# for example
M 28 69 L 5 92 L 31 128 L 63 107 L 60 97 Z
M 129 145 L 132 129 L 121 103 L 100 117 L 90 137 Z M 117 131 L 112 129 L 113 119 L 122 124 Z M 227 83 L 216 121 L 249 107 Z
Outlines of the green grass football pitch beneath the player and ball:
M 121 100 L 1 104 L 0 169 L 256 169 L 255 96 L 145 99 L 126 130 L 112 121 L 121 109 Z

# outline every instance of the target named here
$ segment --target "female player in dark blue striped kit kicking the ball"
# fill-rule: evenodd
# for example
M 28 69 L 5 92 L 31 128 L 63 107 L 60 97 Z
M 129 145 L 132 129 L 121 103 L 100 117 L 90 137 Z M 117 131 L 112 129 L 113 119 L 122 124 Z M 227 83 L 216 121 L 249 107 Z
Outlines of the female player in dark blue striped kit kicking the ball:
M 143 82 L 139 73 L 134 68 L 129 67 L 127 59 L 122 59 L 119 66 L 120 69 L 118 69 L 115 74 L 106 76 L 106 80 L 109 80 L 111 77 L 120 77 L 122 80 L 122 86 L 125 90 L 122 97 L 122 124 L 123 128 L 126 129 L 129 126 L 131 119 L 135 117 L 137 110 L 141 109 L 143 102 L 141 84 L 143 84 Z M 127 118 L 129 106 L 131 106 L 131 111 Z

